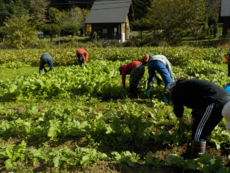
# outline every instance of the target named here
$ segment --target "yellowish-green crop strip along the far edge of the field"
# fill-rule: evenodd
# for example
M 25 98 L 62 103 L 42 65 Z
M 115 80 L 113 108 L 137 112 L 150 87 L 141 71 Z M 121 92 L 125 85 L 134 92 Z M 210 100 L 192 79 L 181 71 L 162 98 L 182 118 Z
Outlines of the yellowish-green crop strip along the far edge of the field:
M 25 49 L 1 50 L 0 64 L 8 62 L 24 62 L 33 66 L 39 65 L 43 53 L 49 53 L 55 66 L 77 63 L 76 49 Z M 142 48 L 88 48 L 89 60 L 142 60 L 146 53 L 165 55 L 172 64 L 190 59 L 209 60 L 220 63 L 228 48 L 194 48 L 194 47 L 142 47 Z

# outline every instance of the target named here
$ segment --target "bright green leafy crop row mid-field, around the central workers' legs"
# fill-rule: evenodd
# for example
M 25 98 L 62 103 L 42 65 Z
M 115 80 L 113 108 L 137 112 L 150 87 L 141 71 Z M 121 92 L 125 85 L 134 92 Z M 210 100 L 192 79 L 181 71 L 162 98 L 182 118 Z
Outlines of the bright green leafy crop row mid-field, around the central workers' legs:
M 129 61 L 99 61 L 87 64 L 88 68 L 78 65 L 57 67 L 45 74 L 18 76 L 17 78 L 0 80 L 0 99 L 2 101 L 20 100 L 23 98 L 71 98 L 76 95 L 88 95 L 105 99 L 129 97 L 128 88 L 124 88 L 119 74 L 119 67 Z M 23 67 L 23 65 L 21 65 Z M 0 68 L 1 69 L 1 68 Z M 210 61 L 188 60 L 183 66 L 173 66 L 174 76 L 187 79 L 203 79 L 221 87 L 228 82 L 227 73 L 222 66 Z M 126 86 L 129 85 L 127 75 Z M 145 97 L 147 87 L 147 69 L 140 81 L 140 95 Z M 162 99 L 163 84 L 154 83 L 154 97 Z

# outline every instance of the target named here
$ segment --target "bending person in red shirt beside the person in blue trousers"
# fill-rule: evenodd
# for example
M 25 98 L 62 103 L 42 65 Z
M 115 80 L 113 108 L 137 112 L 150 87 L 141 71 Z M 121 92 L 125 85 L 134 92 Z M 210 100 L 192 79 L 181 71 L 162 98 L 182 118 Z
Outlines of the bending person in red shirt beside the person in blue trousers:
M 125 87 L 126 75 L 130 74 L 130 92 L 136 98 L 138 83 L 145 73 L 145 66 L 140 61 L 133 61 L 129 64 L 124 64 L 119 68 L 122 75 L 122 84 Z

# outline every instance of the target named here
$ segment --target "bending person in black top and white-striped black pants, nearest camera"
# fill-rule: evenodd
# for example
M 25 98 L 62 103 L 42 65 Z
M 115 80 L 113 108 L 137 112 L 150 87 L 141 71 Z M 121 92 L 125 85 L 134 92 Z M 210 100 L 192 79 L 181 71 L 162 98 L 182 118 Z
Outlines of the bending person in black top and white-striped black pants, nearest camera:
M 174 103 L 174 113 L 179 122 L 184 124 L 184 106 L 192 109 L 192 154 L 198 158 L 204 153 L 206 140 L 222 120 L 227 120 L 226 128 L 230 129 L 230 93 L 218 85 L 199 80 L 184 78 L 168 86 Z

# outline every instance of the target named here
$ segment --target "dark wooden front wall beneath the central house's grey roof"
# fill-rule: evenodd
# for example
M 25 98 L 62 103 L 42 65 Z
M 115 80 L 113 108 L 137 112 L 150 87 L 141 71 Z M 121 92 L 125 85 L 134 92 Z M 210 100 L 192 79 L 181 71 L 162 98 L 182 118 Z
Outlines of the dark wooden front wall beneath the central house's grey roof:
M 120 40 L 121 39 L 121 24 L 120 23 L 98 23 L 91 24 L 92 32 L 96 31 L 100 39 Z M 115 29 L 116 28 L 116 29 Z

